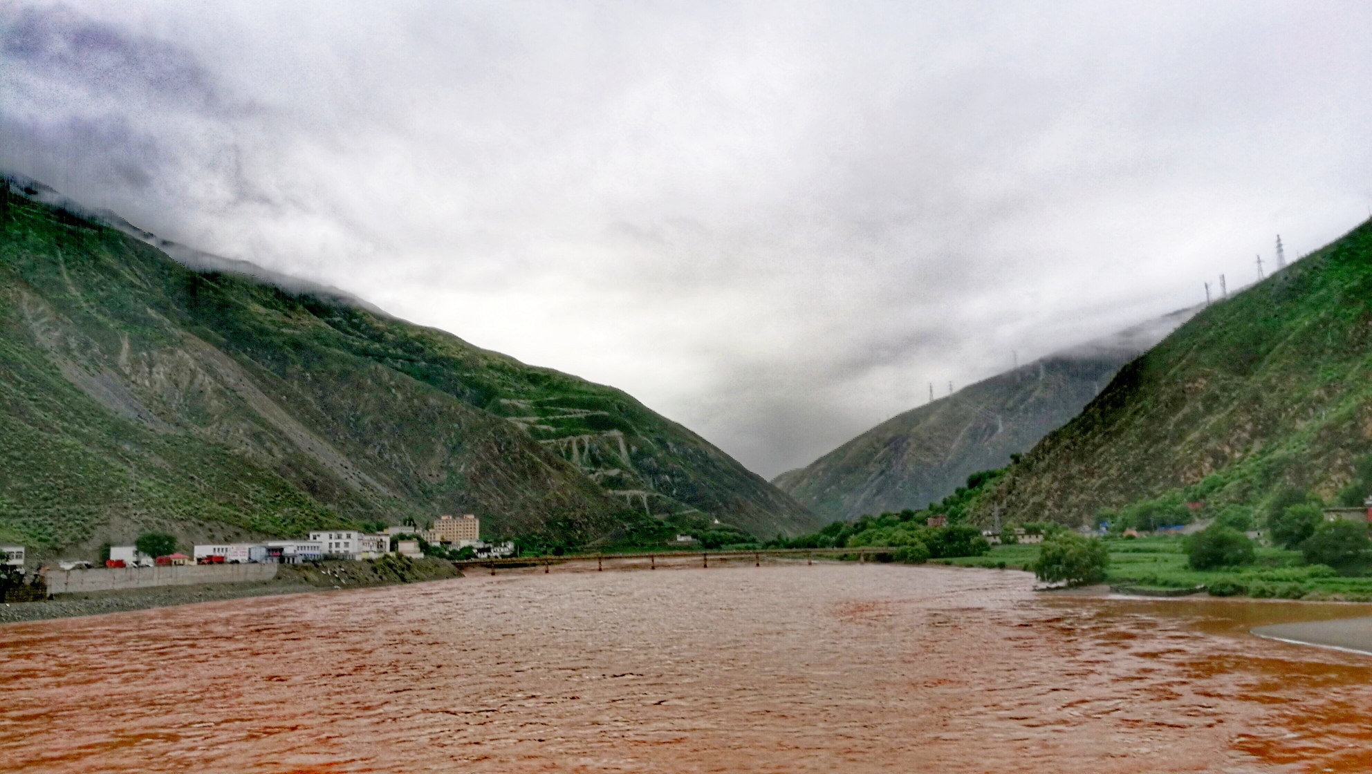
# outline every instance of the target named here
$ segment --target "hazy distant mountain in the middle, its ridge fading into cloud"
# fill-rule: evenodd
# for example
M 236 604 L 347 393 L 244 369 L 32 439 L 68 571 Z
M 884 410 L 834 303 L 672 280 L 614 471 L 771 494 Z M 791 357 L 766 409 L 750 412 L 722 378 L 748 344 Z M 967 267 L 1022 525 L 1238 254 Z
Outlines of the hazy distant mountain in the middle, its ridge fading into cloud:
M 971 473 L 1029 451 L 1195 311 L 1176 311 L 963 388 L 882 422 L 772 484 L 827 519 L 923 508 L 954 493 Z

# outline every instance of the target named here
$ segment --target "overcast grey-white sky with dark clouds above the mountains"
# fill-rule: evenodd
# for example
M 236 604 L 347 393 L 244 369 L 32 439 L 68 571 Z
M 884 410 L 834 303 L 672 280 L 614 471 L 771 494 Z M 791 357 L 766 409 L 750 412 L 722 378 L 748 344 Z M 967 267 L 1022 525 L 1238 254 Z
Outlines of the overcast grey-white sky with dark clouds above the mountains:
M 0 0 L 0 164 L 752 470 L 1372 204 L 1372 4 Z

